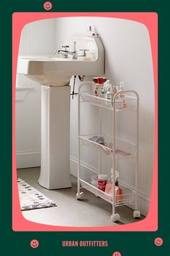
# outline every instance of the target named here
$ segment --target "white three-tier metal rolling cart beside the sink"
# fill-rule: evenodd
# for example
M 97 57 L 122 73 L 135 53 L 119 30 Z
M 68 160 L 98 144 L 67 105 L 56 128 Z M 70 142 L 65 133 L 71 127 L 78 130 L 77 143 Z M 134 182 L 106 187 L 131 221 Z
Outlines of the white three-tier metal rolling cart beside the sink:
M 87 89 L 88 88 L 88 89 Z M 123 90 L 114 95 L 113 101 L 94 96 L 91 92 L 92 82 L 85 82 L 79 86 L 78 95 L 78 190 L 76 194 L 77 200 L 84 199 L 84 192 L 81 188 L 87 189 L 98 197 L 112 204 L 112 222 L 120 221 L 120 215 L 116 213 L 116 207 L 121 205 L 134 205 L 133 218 L 140 218 L 140 210 L 138 210 L 138 93 L 135 90 Z M 126 107 L 117 105 L 120 94 L 125 93 Z M 98 135 L 82 135 L 81 134 L 81 104 L 88 103 L 99 107 L 99 134 Z M 102 134 L 102 108 L 112 111 L 112 136 Z M 135 144 L 120 140 L 117 138 L 115 131 L 115 116 L 124 111 L 134 111 L 135 113 Z M 104 142 L 98 143 L 91 140 L 91 137 L 99 136 L 104 138 Z M 102 171 L 102 153 L 112 158 L 112 195 L 107 194 L 98 188 L 97 184 L 91 183 L 91 176 L 97 175 L 91 170 L 81 170 L 81 146 L 88 146 L 99 150 L 99 169 L 98 174 Z M 135 187 L 131 189 L 121 184 L 121 199 L 117 200 L 115 195 L 115 170 L 116 161 L 121 159 L 133 158 L 135 161 Z

